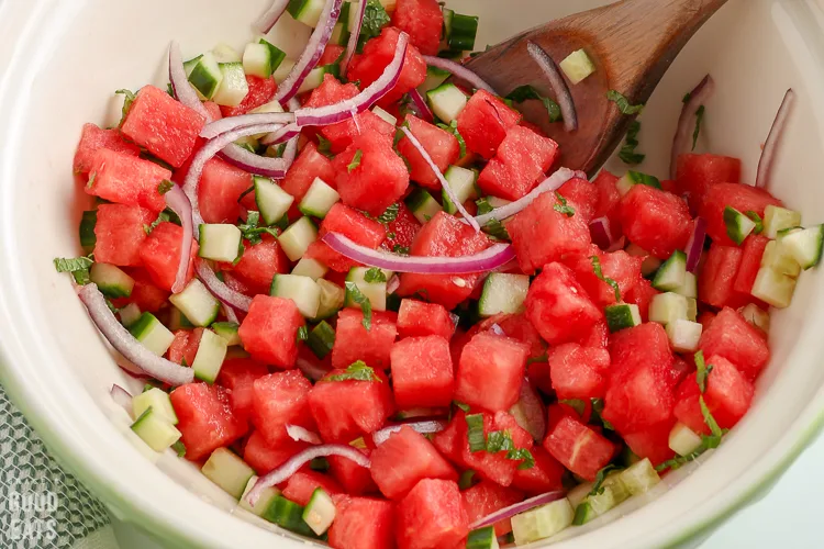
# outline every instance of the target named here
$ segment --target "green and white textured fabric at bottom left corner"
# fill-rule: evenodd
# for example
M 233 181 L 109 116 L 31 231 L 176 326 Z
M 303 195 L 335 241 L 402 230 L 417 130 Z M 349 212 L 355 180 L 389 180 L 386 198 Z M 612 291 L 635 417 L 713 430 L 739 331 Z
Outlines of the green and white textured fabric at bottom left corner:
M 60 469 L 2 386 L 0 548 L 116 548 L 103 505 Z

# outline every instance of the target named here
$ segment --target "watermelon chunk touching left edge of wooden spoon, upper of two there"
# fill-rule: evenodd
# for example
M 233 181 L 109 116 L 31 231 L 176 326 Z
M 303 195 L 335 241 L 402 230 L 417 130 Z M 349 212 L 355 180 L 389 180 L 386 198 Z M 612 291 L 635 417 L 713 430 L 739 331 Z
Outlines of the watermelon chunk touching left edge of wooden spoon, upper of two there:
M 478 90 L 458 115 L 458 132 L 469 150 L 490 159 L 520 121 L 520 112 L 487 90 Z

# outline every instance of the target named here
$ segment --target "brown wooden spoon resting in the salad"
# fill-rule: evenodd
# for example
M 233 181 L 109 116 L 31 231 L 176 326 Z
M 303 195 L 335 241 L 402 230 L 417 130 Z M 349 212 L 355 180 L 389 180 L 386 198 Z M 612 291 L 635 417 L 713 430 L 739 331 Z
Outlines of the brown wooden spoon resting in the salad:
M 726 1 L 621 0 L 526 31 L 474 57 L 467 67 L 501 96 L 528 83 L 555 97 L 530 57 L 527 44 L 539 45 L 556 64 L 583 48 L 597 70 L 580 83 L 569 85 L 578 112 L 576 132 L 549 123 L 537 101 L 526 101 L 519 109 L 560 145 L 561 166 L 592 176 L 634 120 L 622 114 L 606 92 L 616 90 L 632 104 L 646 103 L 684 44 Z

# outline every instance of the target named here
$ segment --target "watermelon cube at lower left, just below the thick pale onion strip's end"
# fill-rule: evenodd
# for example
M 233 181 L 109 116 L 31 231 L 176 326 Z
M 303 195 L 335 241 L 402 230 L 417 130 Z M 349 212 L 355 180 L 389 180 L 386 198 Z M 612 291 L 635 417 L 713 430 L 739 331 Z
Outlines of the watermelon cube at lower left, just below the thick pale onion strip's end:
M 219 385 L 188 383 L 170 394 L 186 446 L 186 459 L 198 461 L 246 434 L 246 422 L 232 411 L 229 391 Z

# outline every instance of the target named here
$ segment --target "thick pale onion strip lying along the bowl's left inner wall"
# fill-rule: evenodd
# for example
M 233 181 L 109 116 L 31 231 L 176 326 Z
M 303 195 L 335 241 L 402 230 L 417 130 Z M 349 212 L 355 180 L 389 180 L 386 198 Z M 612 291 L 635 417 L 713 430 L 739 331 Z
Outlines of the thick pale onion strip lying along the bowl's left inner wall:
M 105 298 L 97 284 L 89 283 L 81 285 L 77 290 L 89 316 L 98 327 L 103 337 L 123 355 L 131 360 L 136 367 L 146 372 L 156 380 L 163 381 L 170 385 L 182 385 L 191 383 L 194 380 L 194 373 L 191 368 L 183 368 L 170 360 L 158 357 L 147 347 L 141 344 L 135 337 L 123 327 L 114 313 L 111 312 L 105 303 Z

